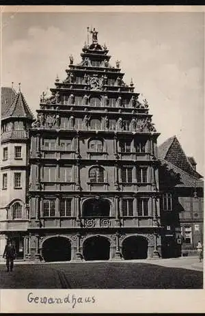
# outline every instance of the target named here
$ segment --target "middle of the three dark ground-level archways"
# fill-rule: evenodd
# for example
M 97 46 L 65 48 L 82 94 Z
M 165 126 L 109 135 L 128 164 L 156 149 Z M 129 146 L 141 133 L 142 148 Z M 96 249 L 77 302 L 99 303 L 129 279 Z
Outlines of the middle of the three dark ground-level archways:
M 83 243 L 83 256 L 86 261 L 109 260 L 110 243 L 106 237 L 94 236 Z

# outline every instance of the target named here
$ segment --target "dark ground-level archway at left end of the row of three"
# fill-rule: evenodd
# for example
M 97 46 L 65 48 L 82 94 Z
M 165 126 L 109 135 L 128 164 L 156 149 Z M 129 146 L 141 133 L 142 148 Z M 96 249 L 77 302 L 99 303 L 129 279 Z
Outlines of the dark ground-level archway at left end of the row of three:
M 51 237 L 42 245 L 44 261 L 70 261 L 71 245 L 65 237 Z

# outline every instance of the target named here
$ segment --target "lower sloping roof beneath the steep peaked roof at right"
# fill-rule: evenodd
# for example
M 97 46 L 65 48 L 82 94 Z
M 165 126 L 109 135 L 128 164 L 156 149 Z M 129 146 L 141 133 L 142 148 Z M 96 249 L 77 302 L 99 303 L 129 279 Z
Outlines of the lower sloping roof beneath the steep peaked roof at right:
M 161 166 L 165 166 L 169 172 L 172 171 L 177 176 L 178 181 L 176 181 L 175 187 L 204 187 L 204 181 L 202 181 L 202 179 L 199 180 L 197 177 L 185 172 L 165 159 L 159 160 Z

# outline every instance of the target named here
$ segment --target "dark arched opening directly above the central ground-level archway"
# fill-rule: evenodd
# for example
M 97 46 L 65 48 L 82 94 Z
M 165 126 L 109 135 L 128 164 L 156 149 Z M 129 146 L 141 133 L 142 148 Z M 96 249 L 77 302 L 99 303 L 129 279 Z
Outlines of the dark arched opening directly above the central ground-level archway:
M 83 217 L 109 217 L 109 201 L 104 198 L 90 198 L 83 204 Z

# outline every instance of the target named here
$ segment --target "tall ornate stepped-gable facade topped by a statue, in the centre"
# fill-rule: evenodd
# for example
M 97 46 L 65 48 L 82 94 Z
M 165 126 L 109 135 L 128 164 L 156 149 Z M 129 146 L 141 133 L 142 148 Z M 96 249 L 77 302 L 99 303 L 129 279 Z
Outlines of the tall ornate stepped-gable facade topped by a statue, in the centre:
M 159 162 L 146 100 L 106 45 L 72 55 L 30 129 L 32 259 L 136 259 L 161 253 Z

